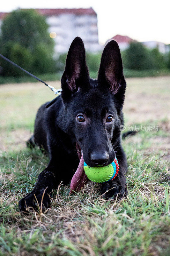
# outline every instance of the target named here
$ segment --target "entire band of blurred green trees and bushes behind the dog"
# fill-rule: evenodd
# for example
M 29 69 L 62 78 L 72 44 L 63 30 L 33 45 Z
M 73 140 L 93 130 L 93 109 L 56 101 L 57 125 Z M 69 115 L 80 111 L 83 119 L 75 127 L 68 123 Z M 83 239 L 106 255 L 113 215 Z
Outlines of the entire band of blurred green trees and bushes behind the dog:
M 67 53 L 60 54 L 56 61 L 53 59 L 54 40 L 49 37 L 44 16 L 35 10 L 13 11 L 3 20 L 1 31 L 0 52 L 4 56 L 35 75 L 41 74 L 41 78 L 45 74 L 45 80 L 61 78 Z M 163 55 L 157 48 L 149 50 L 141 43 L 131 43 L 121 54 L 125 77 L 169 74 L 170 52 Z M 101 53 L 86 53 L 92 78 L 97 78 L 100 59 Z M 23 71 L 4 60 L 0 60 L 0 73 L 0 84 L 33 81 L 32 78 L 23 77 Z

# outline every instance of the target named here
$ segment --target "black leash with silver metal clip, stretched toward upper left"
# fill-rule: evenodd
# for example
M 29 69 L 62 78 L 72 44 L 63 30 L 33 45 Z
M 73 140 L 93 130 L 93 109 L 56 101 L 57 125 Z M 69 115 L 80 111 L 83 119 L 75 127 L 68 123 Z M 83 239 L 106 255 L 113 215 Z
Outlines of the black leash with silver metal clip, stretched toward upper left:
M 21 68 L 20 66 L 18 66 L 16 63 L 14 63 L 13 61 L 7 59 L 5 56 L 3 56 L 1 53 L 0 53 L 0 57 L 3 58 L 4 60 L 8 61 L 10 64 L 12 64 L 13 66 L 21 69 L 22 71 L 24 71 L 26 74 L 28 74 L 29 76 L 32 76 L 33 78 L 37 79 L 38 81 L 40 81 L 41 83 L 45 84 L 46 86 L 48 86 L 48 88 L 51 89 L 51 91 L 53 91 L 55 94 L 58 94 L 60 95 L 60 92 L 62 90 L 56 90 L 53 86 L 50 86 L 49 84 L 45 83 L 44 81 L 42 81 L 40 78 L 38 78 L 37 76 L 34 76 L 33 74 L 31 74 L 30 72 L 26 71 L 24 68 Z M 51 102 L 49 102 L 47 105 L 46 105 L 46 108 L 50 107 L 55 101 L 56 101 L 57 97 L 52 100 Z

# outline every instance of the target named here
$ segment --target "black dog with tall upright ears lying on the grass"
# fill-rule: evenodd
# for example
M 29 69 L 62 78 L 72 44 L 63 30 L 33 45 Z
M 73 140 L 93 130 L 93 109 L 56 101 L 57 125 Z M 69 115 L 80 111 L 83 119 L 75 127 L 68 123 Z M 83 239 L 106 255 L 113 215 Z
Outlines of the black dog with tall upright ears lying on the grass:
M 21 211 L 26 211 L 26 206 L 36 209 L 35 196 L 40 204 L 46 188 L 43 204 L 47 207 L 52 189 L 61 181 L 70 182 L 79 164 L 76 144 L 85 163 L 92 167 L 108 165 L 117 157 L 118 175 L 102 183 L 101 194 L 107 199 L 126 195 L 127 160 L 120 132 L 126 82 L 118 44 L 113 40 L 106 45 L 98 79 L 93 80 L 86 66 L 83 41 L 76 37 L 67 55 L 61 87 L 55 103 L 49 108 L 46 103 L 37 112 L 29 142 L 43 147 L 50 162 L 39 174 L 33 191 L 19 201 Z

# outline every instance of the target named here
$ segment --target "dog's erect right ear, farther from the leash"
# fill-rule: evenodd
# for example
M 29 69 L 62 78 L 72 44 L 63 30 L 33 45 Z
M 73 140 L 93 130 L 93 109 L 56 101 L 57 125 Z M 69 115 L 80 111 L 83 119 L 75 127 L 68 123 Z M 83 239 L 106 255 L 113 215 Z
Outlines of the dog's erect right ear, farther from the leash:
M 110 41 L 104 48 L 98 74 L 100 87 L 107 86 L 117 99 L 118 108 L 121 108 L 124 101 L 126 82 L 123 76 L 122 58 L 116 41 Z

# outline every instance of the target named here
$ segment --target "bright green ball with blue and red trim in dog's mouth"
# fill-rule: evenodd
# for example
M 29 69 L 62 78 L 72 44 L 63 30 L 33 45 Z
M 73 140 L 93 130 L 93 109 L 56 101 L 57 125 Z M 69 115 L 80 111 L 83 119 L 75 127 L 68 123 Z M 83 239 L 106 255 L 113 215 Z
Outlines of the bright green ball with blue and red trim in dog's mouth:
M 116 159 L 116 158 L 115 158 Z M 113 161 L 107 166 L 90 167 L 84 162 L 84 170 L 89 180 L 97 183 L 103 183 L 108 180 L 112 180 L 118 170 L 118 161 L 116 164 Z M 118 169 L 117 169 L 118 168 Z M 117 175 L 117 174 L 116 174 Z

